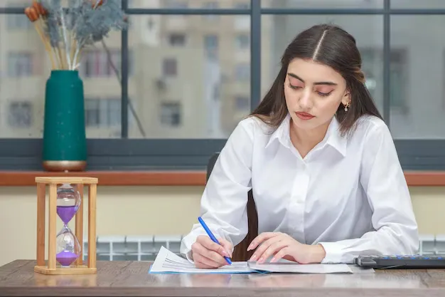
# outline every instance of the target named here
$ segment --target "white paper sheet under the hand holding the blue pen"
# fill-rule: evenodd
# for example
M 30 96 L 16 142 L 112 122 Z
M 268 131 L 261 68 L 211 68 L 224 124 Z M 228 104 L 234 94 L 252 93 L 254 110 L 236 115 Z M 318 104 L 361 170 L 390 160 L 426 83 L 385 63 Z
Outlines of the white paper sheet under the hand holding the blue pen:
M 178 256 L 161 246 L 158 256 L 149 269 L 149 273 L 252 273 L 247 262 L 232 262 L 219 269 L 198 269 L 187 259 Z

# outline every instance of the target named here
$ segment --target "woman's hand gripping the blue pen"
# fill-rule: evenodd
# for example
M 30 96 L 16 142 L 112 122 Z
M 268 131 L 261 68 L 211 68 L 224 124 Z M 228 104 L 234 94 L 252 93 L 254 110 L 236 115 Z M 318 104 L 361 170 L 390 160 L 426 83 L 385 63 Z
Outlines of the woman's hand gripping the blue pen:
M 225 239 L 218 239 L 217 244 L 209 236 L 200 235 L 192 244 L 192 257 L 196 268 L 215 269 L 227 265 L 224 257 L 232 257 L 232 244 Z

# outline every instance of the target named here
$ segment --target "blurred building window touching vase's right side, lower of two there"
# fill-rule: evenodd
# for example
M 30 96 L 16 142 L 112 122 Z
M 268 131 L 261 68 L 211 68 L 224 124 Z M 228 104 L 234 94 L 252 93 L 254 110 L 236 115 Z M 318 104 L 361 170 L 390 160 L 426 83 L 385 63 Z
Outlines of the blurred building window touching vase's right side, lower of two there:
M 87 127 L 116 127 L 121 125 L 121 100 L 116 98 L 85 99 Z

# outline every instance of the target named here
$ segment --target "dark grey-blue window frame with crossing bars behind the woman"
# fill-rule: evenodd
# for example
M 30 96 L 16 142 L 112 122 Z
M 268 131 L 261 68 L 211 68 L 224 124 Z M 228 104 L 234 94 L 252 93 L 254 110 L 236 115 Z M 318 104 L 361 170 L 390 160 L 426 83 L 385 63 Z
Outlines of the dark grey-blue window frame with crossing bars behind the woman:
M 383 117 L 390 127 L 390 16 L 401 14 L 445 15 L 445 9 L 392 9 L 383 0 L 381 9 L 299 9 L 262 7 L 260 0 L 250 0 L 250 7 L 233 9 L 129 8 L 132 15 L 240 15 L 250 16 L 250 108 L 261 97 L 261 21 L 274 14 L 372 14 L 383 16 Z M 0 7 L 0 14 L 23 14 L 23 7 Z M 87 170 L 205 170 L 213 153 L 220 151 L 226 139 L 129 139 L 128 78 L 129 36 L 122 31 L 121 80 L 122 108 L 120 138 L 87 139 Z M 445 170 L 445 140 L 395 140 L 404 170 Z M 42 170 L 42 139 L 1 138 L 0 170 Z

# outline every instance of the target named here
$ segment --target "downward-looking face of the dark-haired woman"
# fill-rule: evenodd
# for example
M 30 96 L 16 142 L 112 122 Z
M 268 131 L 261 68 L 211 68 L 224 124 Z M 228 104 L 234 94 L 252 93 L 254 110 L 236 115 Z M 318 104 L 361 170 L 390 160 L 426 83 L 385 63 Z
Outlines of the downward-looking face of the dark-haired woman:
M 329 125 L 338 106 L 350 102 L 346 81 L 340 73 L 300 58 L 289 63 L 284 95 L 294 125 L 303 130 Z

